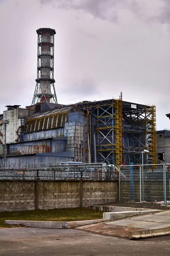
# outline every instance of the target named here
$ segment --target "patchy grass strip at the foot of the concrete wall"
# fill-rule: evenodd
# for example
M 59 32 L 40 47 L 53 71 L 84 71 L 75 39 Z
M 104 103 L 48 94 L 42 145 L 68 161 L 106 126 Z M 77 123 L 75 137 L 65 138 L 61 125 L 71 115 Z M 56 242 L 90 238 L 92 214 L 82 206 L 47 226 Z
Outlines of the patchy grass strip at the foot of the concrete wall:
M 90 208 L 63 208 L 52 210 L 31 210 L 19 212 L 0 212 L 0 228 L 20 227 L 5 224 L 6 220 L 22 221 L 83 221 L 102 219 L 103 212 Z

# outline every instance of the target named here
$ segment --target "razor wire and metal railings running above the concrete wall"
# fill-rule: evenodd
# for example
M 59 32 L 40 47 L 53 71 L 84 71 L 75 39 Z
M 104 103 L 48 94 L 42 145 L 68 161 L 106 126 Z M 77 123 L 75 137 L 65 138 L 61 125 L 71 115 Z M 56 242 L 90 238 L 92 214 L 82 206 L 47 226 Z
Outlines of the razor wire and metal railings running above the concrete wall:
M 118 179 L 114 167 L 105 164 L 55 165 L 45 169 L 0 169 L 0 180 L 93 180 Z

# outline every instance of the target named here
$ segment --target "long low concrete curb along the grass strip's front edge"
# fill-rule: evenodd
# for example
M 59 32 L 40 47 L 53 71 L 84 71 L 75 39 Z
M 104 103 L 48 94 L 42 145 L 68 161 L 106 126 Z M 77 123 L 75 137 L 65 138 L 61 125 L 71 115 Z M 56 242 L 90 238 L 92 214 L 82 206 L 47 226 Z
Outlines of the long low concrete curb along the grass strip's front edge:
M 12 224 L 12 225 L 23 225 L 26 227 L 41 227 L 41 228 L 73 228 L 73 227 L 80 227 L 85 226 L 89 224 L 95 224 L 99 222 L 105 222 L 109 221 L 109 219 L 98 219 L 98 220 L 89 220 L 89 221 L 68 221 L 68 222 L 62 222 L 62 221 L 11 221 L 6 220 L 6 224 Z

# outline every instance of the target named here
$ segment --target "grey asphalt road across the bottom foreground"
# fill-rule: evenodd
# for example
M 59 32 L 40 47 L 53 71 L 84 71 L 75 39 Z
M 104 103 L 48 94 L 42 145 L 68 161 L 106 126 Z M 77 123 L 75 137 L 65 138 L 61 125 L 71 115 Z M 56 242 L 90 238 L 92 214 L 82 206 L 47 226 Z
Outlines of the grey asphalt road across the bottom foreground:
M 170 236 L 119 239 L 80 230 L 0 230 L 0 256 L 169 256 Z

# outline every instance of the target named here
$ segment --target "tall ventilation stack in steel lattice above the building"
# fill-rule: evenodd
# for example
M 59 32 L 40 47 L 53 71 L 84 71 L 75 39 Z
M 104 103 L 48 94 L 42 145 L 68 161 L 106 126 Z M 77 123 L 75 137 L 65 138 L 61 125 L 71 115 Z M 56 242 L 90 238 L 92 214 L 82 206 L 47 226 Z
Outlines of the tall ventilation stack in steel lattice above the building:
M 57 103 L 54 87 L 54 35 L 55 29 L 37 29 L 37 82 L 32 105 L 38 102 Z

